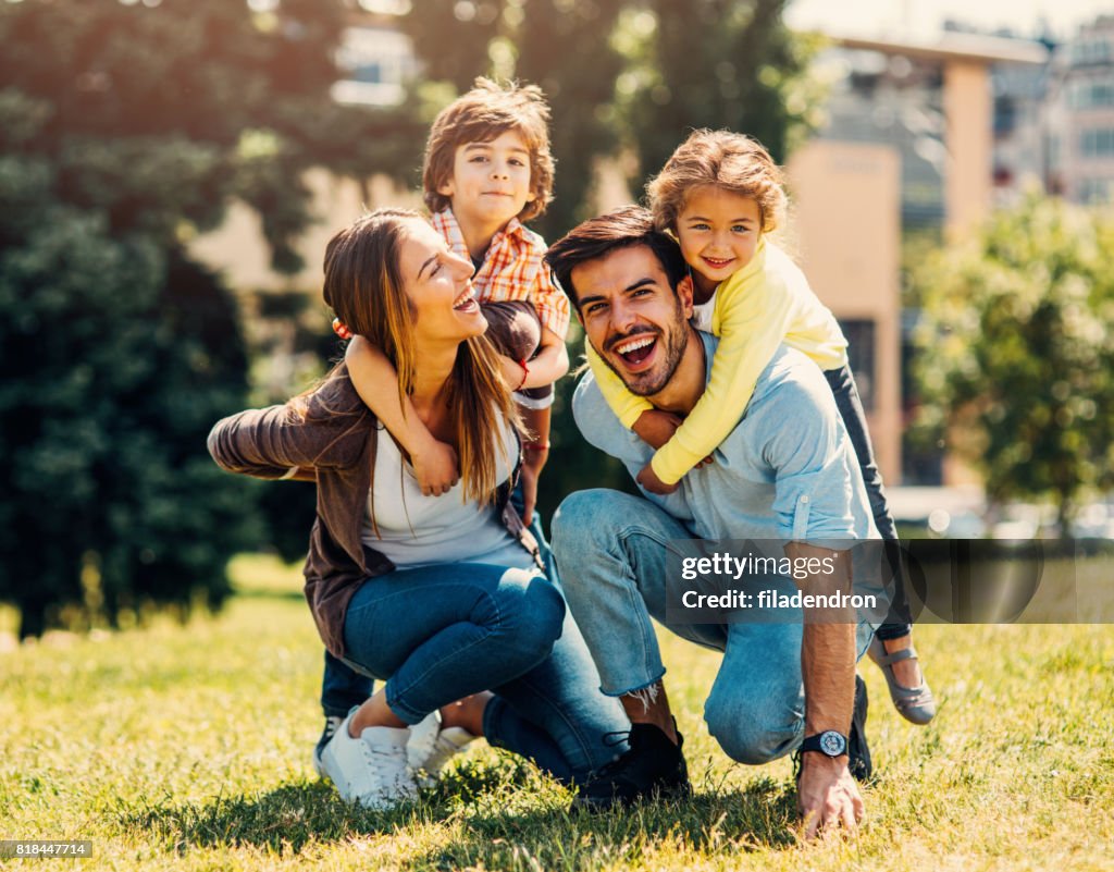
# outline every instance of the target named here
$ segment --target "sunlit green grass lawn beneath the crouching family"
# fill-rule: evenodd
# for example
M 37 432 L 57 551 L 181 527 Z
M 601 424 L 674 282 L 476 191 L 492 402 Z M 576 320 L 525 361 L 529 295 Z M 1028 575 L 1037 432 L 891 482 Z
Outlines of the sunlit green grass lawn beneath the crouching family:
M 86 866 L 120 870 L 1114 870 L 1107 626 L 918 628 L 942 701 L 927 728 L 864 663 L 869 817 L 804 845 L 789 762 L 719 750 L 701 717 L 717 658 L 667 633 L 691 802 L 570 815 L 479 743 L 417 806 L 346 806 L 310 766 L 321 647 L 300 575 L 235 570 L 217 619 L 0 647 L 0 839 L 92 840 Z

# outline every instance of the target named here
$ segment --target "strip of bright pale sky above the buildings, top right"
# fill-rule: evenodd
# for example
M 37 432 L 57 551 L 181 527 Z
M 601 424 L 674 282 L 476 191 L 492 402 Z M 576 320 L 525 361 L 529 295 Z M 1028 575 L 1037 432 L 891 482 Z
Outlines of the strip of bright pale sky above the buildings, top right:
M 839 36 L 905 36 L 931 40 L 944 20 L 978 27 L 1010 27 L 1032 36 L 1043 18 L 1054 37 L 1075 35 L 1081 23 L 1114 14 L 1114 0 L 791 0 L 786 22 Z

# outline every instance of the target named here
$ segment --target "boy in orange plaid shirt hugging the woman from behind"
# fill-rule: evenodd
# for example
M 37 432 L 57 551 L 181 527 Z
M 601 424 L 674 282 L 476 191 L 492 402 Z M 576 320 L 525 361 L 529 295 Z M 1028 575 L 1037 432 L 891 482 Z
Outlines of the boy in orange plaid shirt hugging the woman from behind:
M 553 200 L 548 122 L 549 108 L 537 86 L 504 87 L 479 78 L 434 119 L 422 165 L 431 223 L 455 253 L 476 267 L 472 282 L 488 336 L 501 352 L 504 378 L 515 389 L 531 434 L 522 446 L 520 473 L 527 524 L 535 516 L 538 476 L 549 454 L 553 384 L 568 371 L 568 298 L 541 262 L 545 241 L 522 225 Z M 351 337 L 345 362 L 352 384 L 409 454 L 422 493 L 448 494 L 459 477 L 456 452 L 426 429 L 385 355 L 344 324 L 334 323 L 334 329 Z M 325 728 L 315 765 L 348 707 L 363 703 L 371 690 L 370 679 L 329 657 L 323 686 L 330 692 L 323 689 Z M 436 718 L 427 720 L 431 723 L 413 728 L 411 746 L 422 747 L 410 748 L 410 762 L 436 775 L 471 737 L 458 735 L 459 728 L 441 733 Z

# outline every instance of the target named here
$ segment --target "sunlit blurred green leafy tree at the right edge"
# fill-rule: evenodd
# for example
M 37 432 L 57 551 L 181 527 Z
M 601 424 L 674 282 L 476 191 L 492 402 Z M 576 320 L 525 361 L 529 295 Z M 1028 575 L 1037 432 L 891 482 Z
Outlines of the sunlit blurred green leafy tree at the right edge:
M 921 426 L 1062 531 L 1114 486 L 1114 220 L 1029 193 L 916 270 Z

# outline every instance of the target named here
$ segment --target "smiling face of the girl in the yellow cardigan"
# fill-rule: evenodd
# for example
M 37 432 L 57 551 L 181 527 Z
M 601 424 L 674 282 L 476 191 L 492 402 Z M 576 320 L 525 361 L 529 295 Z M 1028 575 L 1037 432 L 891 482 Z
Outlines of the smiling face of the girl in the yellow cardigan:
M 685 262 L 716 284 L 751 262 L 761 229 L 756 200 L 714 185 L 695 188 L 677 215 Z

